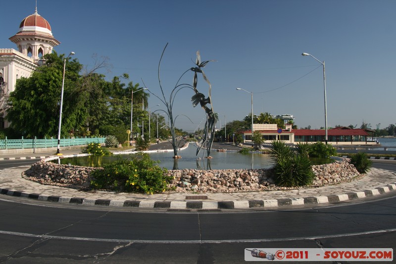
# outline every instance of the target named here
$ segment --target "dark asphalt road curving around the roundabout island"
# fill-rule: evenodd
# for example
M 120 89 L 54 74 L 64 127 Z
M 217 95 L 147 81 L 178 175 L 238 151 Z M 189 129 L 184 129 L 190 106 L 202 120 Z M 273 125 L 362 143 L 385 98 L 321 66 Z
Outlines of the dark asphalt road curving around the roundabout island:
M 374 166 L 396 171 L 394 163 Z M 297 210 L 190 213 L 55 207 L 0 196 L 0 262 L 244 263 L 245 248 L 392 248 L 393 196 Z

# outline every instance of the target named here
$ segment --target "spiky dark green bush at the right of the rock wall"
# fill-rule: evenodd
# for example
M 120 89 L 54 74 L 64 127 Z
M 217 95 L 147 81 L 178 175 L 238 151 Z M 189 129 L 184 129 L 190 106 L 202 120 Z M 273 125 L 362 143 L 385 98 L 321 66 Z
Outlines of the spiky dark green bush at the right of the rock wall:
M 314 177 L 309 158 L 299 155 L 284 141 L 272 142 L 269 153 L 274 161 L 273 171 L 275 183 L 283 187 L 311 185 Z

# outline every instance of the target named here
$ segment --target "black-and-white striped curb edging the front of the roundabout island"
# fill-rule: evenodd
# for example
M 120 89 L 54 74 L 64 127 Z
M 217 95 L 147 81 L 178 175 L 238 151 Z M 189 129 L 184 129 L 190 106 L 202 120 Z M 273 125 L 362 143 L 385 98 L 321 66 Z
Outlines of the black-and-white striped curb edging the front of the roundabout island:
M 396 190 L 396 182 L 372 190 L 360 192 L 350 192 L 345 194 L 304 197 L 304 198 L 284 198 L 271 200 L 246 200 L 246 201 L 154 201 L 154 200 L 108 200 L 108 199 L 87 199 L 83 197 L 62 197 L 46 196 L 36 193 L 25 193 L 24 191 L 0 188 L 0 193 L 14 197 L 25 197 L 39 201 L 91 205 L 91 206 L 111 206 L 111 207 L 134 207 L 145 209 L 173 209 L 173 210 L 220 210 L 220 209 L 259 209 L 259 208 L 277 208 L 282 206 L 300 206 L 326 203 L 338 203 L 343 201 L 361 199 L 370 196 L 376 196 L 389 193 Z

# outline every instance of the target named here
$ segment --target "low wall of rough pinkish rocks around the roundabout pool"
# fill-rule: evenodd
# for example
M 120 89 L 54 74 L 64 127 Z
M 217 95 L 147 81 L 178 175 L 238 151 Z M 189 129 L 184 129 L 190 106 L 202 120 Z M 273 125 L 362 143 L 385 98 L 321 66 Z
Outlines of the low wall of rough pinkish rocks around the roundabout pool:
M 22 176 L 42 184 L 89 189 L 90 173 L 98 168 L 69 166 L 41 160 L 34 163 Z M 346 159 L 331 164 L 312 166 L 313 186 L 349 182 L 360 174 Z M 169 187 L 176 192 L 228 193 L 248 191 L 288 190 L 274 184 L 271 169 L 168 170 L 174 180 Z

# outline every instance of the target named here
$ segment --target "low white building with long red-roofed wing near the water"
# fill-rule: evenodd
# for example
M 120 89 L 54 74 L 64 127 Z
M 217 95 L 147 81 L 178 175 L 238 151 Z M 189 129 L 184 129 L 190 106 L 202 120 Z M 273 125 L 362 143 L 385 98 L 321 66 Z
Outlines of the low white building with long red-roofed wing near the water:
M 292 125 L 286 125 L 286 129 L 279 129 L 276 124 L 253 124 L 253 131 L 260 131 L 265 141 L 282 140 L 291 144 L 324 142 L 326 137 L 323 129 L 292 129 Z M 371 131 L 347 127 L 328 129 L 328 143 L 332 145 L 375 145 L 376 142 L 369 140 L 372 136 L 368 132 Z M 251 141 L 251 130 L 241 133 L 245 142 Z

